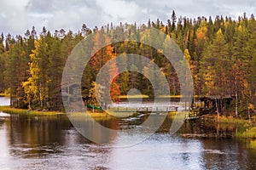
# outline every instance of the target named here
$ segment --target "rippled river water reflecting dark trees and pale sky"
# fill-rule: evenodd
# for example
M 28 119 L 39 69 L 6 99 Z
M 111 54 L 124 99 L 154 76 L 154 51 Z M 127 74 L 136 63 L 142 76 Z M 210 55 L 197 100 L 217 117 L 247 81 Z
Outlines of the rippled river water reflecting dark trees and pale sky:
M 8 103 L 0 98 L 0 105 Z M 138 126 L 132 121 L 102 122 L 110 127 Z M 166 130 L 169 124 L 164 122 L 158 133 L 139 144 L 115 148 L 84 139 L 65 115 L 0 113 L 0 169 L 256 169 L 256 150 L 247 149 L 244 141 L 185 139 L 178 133 L 201 133 L 202 125 L 186 123 L 172 135 Z

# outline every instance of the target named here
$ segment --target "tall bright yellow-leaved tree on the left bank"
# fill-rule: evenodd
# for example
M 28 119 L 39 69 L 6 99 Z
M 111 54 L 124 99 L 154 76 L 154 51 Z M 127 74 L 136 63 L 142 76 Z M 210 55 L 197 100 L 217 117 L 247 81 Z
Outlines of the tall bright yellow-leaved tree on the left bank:
M 32 50 L 31 63 L 29 68 L 30 77 L 23 82 L 26 93 L 26 103 L 30 108 L 44 108 L 49 102 L 49 41 L 46 37 L 40 36 L 35 41 L 35 49 Z

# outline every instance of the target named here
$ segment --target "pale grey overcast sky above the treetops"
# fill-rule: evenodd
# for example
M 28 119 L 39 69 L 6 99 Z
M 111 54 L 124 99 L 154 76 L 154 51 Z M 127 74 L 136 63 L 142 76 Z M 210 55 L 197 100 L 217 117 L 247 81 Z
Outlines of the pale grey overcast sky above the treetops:
M 78 31 L 85 23 L 90 28 L 110 22 L 147 23 L 159 18 L 166 22 L 172 10 L 178 16 L 228 15 L 236 19 L 244 12 L 256 13 L 255 0 L 0 0 L 0 31 L 24 35 L 35 26 L 55 31 Z

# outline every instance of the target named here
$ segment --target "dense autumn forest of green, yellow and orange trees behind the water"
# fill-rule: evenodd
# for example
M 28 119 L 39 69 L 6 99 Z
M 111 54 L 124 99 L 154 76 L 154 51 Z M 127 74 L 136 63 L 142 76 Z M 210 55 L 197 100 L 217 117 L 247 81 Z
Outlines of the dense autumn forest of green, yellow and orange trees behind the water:
M 63 110 L 61 103 L 61 75 L 67 57 L 73 48 L 95 33 L 95 42 L 100 39 L 109 42 L 112 31 L 120 35 L 130 34 L 140 40 L 149 28 L 165 32 L 177 42 L 186 59 L 189 60 L 196 96 L 232 96 L 236 98 L 240 114 L 256 106 L 256 20 L 252 15 L 241 15 L 234 20 L 228 16 L 198 17 L 190 19 L 177 17 L 172 12 L 170 20 L 148 20 L 147 24 L 112 23 L 101 28 L 88 28 L 85 24 L 80 31 L 54 32 L 45 27 L 42 31 L 25 31 L 24 35 L 0 37 L 0 93 L 8 93 L 15 108 L 32 110 Z M 109 37 L 102 36 L 109 33 Z M 150 32 L 149 32 L 150 33 Z M 99 44 L 94 43 L 94 46 Z M 109 59 L 119 54 L 140 54 L 148 57 L 161 68 L 170 85 L 172 95 L 180 94 L 179 82 L 172 64 L 166 62 L 160 51 L 137 42 L 121 42 L 109 45 L 97 52 L 84 69 L 82 93 L 84 99 L 93 96 L 97 72 Z M 130 65 L 127 59 L 125 67 Z M 119 68 L 120 64 L 116 65 Z M 116 70 L 109 70 L 110 74 Z M 143 71 L 153 77 L 154 72 Z M 160 80 L 159 80 L 160 81 Z M 160 86 L 161 83 L 159 83 Z M 131 88 L 140 89 L 142 94 L 153 97 L 152 85 L 143 74 L 126 71 L 113 80 L 111 97 L 118 101 Z M 235 104 L 231 110 L 235 111 Z

